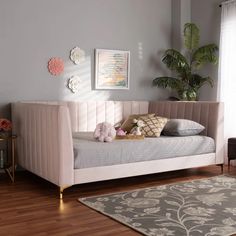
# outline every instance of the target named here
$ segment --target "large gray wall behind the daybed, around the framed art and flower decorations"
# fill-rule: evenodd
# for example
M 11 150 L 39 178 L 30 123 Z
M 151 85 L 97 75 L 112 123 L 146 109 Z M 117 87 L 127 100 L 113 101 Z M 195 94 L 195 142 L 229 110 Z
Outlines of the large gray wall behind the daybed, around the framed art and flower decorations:
M 0 0 L 0 116 L 18 100 L 155 100 L 152 87 L 166 73 L 157 59 L 171 47 L 171 0 Z M 79 66 L 69 51 L 79 46 Z M 95 91 L 94 49 L 130 50 L 130 90 Z M 62 76 L 47 71 L 51 57 L 65 61 Z M 72 94 L 67 79 L 77 74 L 83 88 Z

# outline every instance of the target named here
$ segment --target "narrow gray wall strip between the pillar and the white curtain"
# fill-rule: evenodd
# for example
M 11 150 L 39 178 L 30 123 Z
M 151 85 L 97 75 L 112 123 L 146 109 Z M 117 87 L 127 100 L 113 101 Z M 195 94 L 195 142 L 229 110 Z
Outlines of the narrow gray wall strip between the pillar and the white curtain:
M 200 28 L 201 43 L 216 43 L 220 40 L 220 18 L 221 8 L 219 4 L 222 0 L 192 0 L 191 17 L 192 22 Z M 217 99 L 218 66 L 207 66 L 202 70 L 202 74 L 211 76 L 214 79 L 214 87 L 205 86 L 200 91 L 201 100 Z

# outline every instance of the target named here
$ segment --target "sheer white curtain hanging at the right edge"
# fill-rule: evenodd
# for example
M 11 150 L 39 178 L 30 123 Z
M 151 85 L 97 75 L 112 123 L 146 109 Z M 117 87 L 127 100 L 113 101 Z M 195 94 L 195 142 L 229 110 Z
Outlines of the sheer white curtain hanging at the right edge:
M 236 0 L 222 4 L 218 88 L 218 99 L 225 104 L 227 141 L 236 137 Z

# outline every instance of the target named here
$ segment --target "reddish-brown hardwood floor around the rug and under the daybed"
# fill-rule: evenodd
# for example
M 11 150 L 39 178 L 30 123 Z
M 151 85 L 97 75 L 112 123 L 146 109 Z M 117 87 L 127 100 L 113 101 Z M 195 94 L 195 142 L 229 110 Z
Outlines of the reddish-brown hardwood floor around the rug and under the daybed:
M 228 168 L 224 168 L 228 174 Z M 101 215 L 77 201 L 79 197 L 132 190 L 221 174 L 220 167 L 204 167 L 121 180 L 76 185 L 64 191 L 47 181 L 22 171 L 13 184 L 0 174 L 0 235 L 105 236 L 140 235 L 132 229 Z M 236 176 L 236 168 L 229 172 Z

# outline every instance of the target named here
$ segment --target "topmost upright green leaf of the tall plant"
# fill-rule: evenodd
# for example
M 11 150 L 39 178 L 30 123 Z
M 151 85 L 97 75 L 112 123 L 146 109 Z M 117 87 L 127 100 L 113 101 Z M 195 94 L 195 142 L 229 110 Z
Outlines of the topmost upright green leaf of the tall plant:
M 194 23 L 184 25 L 184 45 L 188 50 L 194 50 L 199 45 L 199 29 Z

